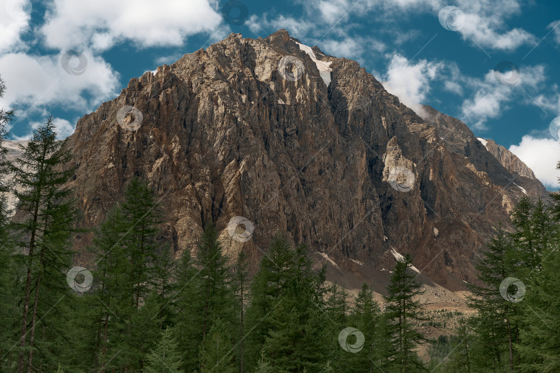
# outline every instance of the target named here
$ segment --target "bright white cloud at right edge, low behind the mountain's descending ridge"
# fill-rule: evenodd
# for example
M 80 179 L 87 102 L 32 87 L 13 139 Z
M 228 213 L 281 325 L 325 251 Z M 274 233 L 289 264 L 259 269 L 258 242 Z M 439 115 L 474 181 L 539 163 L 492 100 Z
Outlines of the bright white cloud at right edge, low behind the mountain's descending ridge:
M 510 151 L 533 170 L 545 187 L 559 187 L 560 170 L 556 169 L 556 165 L 560 160 L 560 142 L 525 135 L 519 145 L 510 146 Z

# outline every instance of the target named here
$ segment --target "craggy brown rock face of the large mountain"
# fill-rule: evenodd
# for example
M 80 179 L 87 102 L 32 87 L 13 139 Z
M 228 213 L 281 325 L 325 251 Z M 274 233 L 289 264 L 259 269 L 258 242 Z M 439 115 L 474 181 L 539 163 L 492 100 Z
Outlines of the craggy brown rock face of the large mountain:
M 330 61 L 328 86 L 285 30 L 232 34 L 131 79 L 71 136 L 84 227 L 139 176 L 162 200 L 162 240 L 178 255 L 212 221 L 223 247 L 247 250 L 254 265 L 286 231 L 362 280 L 387 274 L 394 248 L 449 289 L 472 282 L 492 225 L 523 195 L 512 180 L 532 196 L 545 189 L 506 169 L 457 119 L 432 108 L 422 119 L 357 62 L 312 50 Z M 301 65 L 279 70 L 286 56 Z M 254 224 L 250 240 L 228 234 L 235 216 Z

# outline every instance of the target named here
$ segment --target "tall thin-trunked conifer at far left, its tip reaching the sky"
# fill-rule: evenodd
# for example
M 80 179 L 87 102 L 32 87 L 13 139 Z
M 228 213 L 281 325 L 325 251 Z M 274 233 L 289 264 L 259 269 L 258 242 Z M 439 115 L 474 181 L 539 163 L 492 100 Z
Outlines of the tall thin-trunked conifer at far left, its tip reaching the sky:
M 53 343 L 45 332 L 35 341 L 37 322 L 45 325 L 46 315 L 50 314 L 50 329 L 54 329 L 57 319 L 52 317 L 60 297 L 68 292 L 60 274 L 71 267 L 69 238 L 75 209 L 71 190 L 62 187 L 73 175 L 73 169 L 67 166 L 71 154 L 66 149 L 66 140 L 57 141 L 56 135 L 50 117 L 34 131 L 26 146 L 20 145 L 23 155 L 12 169 L 21 190 L 15 191 L 19 209 L 26 213 L 24 221 L 17 224 L 22 238 L 18 245 L 27 254 L 18 372 L 23 372 L 25 365 L 28 372 L 32 371 L 36 348 L 41 350 L 41 356 L 52 350 Z

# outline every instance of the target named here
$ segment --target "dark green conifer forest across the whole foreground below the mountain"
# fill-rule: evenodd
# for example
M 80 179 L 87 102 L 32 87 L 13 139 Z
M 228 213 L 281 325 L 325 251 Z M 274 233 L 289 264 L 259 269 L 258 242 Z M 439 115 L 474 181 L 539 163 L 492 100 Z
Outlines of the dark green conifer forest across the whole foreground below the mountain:
M 0 140 L 13 115 L 0 111 Z M 255 274 L 243 251 L 223 254 L 212 222 L 176 259 L 158 240 L 158 198 L 138 178 L 93 230 L 95 261 L 75 266 L 84 232 L 56 135 L 48 119 L 15 162 L 1 154 L 2 372 L 560 372 L 559 195 L 523 198 L 514 230 L 496 227 L 469 285 L 476 312 L 433 341 L 419 332 L 410 256 L 386 289 L 364 283 L 355 297 L 282 232 Z M 431 346 L 429 361 L 419 345 Z

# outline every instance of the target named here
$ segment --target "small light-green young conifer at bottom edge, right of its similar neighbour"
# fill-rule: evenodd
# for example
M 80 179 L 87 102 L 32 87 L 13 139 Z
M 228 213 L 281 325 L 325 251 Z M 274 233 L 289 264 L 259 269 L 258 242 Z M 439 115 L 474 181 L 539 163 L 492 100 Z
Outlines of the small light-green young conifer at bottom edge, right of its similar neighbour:
M 216 319 L 200 345 L 200 372 L 237 372 L 233 350 L 232 338 L 225 323 L 220 318 Z

